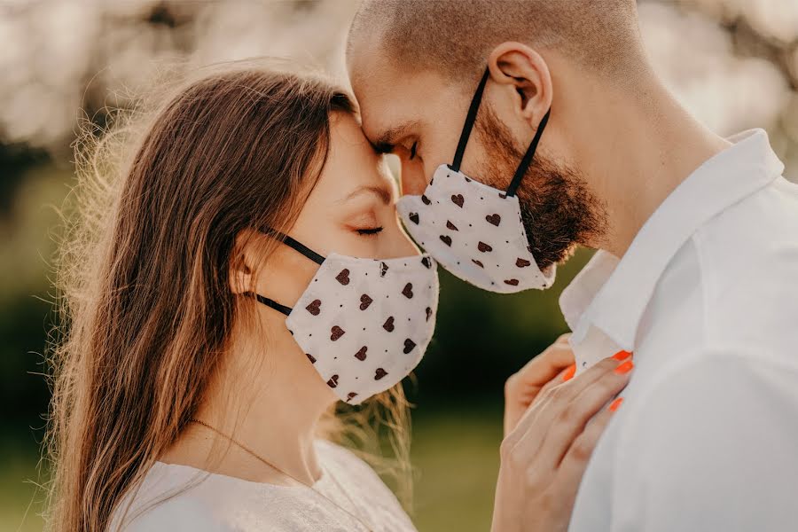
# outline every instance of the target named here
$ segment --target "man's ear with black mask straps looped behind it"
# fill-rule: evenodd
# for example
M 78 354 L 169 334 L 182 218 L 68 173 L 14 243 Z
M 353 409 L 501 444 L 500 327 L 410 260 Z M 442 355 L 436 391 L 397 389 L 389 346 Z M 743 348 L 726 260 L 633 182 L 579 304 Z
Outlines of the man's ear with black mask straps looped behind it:
M 490 52 L 488 68 L 494 82 L 514 88 L 518 112 L 537 128 L 553 97 L 552 76 L 543 57 L 526 44 L 501 43 Z

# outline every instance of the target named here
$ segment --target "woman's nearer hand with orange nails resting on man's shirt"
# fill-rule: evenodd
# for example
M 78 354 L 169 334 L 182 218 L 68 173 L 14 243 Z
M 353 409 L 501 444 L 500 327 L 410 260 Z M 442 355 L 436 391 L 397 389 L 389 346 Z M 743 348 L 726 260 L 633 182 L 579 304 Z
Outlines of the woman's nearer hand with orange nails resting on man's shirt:
M 613 397 L 629 382 L 628 358 L 619 353 L 575 379 L 556 378 L 505 436 L 493 532 L 567 530 L 588 459 L 621 403 Z

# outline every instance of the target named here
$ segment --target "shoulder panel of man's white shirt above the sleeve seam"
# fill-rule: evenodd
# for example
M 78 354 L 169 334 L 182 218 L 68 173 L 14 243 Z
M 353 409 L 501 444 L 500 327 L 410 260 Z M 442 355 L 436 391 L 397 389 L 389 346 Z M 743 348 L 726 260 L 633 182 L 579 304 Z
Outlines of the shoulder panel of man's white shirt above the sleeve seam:
M 692 237 L 708 347 L 798 359 L 798 185 L 779 178 Z

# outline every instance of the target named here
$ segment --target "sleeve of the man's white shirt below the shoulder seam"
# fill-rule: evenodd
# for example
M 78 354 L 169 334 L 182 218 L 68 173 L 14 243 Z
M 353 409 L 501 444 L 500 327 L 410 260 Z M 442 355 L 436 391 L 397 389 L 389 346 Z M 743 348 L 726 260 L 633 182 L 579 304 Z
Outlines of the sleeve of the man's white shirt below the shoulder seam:
M 616 522 L 630 530 L 791 522 L 798 368 L 697 349 L 658 377 L 615 414 Z

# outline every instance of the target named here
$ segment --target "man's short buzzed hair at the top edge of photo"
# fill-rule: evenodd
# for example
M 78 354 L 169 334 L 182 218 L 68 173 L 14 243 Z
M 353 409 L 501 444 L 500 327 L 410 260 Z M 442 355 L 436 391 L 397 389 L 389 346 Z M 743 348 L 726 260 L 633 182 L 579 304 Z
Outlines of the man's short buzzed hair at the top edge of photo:
M 635 0 L 364 0 L 349 30 L 396 66 L 472 79 L 498 44 L 549 49 L 597 74 L 642 63 Z

